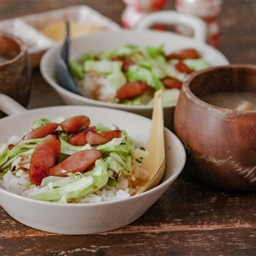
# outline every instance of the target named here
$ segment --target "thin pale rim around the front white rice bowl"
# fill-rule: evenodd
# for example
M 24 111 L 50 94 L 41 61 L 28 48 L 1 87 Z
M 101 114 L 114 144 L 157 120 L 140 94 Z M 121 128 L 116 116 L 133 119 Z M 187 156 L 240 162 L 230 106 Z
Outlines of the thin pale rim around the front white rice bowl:
M 71 108 L 81 108 L 81 109 L 84 109 L 84 108 L 89 108 L 89 109 L 94 109 L 94 110 L 102 110 L 104 109 L 104 111 L 110 111 L 110 112 L 121 112 L 122 114 L 125 114 L 125 115 L 128 115 L 128 116 L 137 116 L 139 117 L 140 119 L 144 119 L 144 120 L 147 120 L 147 121 L 150 121 L 151 122 L 151 119 L 150 118 L 146 118 L 144 116 L 140 116 L 139 114 L 134 114 L 134 113 L 131 113 L 131 112 L 126 112 L 124 110 L 118 110 L 118 109 L 112 109 L 112 108 L 102 108 L 102 107 L 99 107 L 99 106 L 79 106 L 79 105 L 64 105 L 64 106 L 50 106 L 50 107 L 44 107 L 44 108 L 35 108 L 35 109 L 32 109 L 32 110 L 24 110 L 22 112 L 19 112 L 17 114 L 14 114 L 14 115 L 11 115 L 11 116 L 6 116 L 4 118 L 1 118 L 0 120 L 0 123 L 1 122 L 4 122 L 4 120 L 8 119 L 8 118 L 15 118 L 16 116 L 23 116 L 23 114 L 27 114 L 27 113 L 32 113 L 32 112 L 38 112 L 40 110 L 54 110 L 56 108 L 61 108 L 63 109 L 62 111 L 64 112 L 64 109 L 65 108 L 68 108 L 68 109 L 71 109 Z M 58 202 L 49 202 L 49 201 L 42 201 L 42 200 L 36 200 L 36 199 L 33 199 L 33 198 L 28 198 L 28 197 L 25 197 L 25 196 L 21 196 L 21 195 L 18 195 L 18 194 L 15 194 L 13 192 L 9 192 L 7 191 L 6 189 L 0 187 L 0 193 L 3 192 L 3 193 L 6 193 L 8 194 L 9 196 L 14 196 L 16 198 L 19 198 L 21 200 L 28 200 L 28 201 L 31 201 L 31 202 L 37 202 L 39 204 L 50 204 L 50 205 L 60 205 L 60 206 L 66 206 L 66 207 L 84 207 L 84 206 L 100 206 L 102 204 L 116 204 L 118 202 L 121 202 L 121 201 L 126 201 L 126 200 L 132 200 L 132 198 L 140 198 L 140 197 L 143 197 L 143 196 L 146 196 L 148 194 L 151 194 L 153 192 L 155 192 L 156 190 L 162 188 L 163 186 L 165 186 L 166 184 L 168 184 L 170 182 L 170 180 L 175 180 L 178 175 L 182 172 L 183 168 L 184 168 L 184 165 L 185 165 L 185 162 L 186 162 L 186 152 L 185 152 L 185 148 L 184 146 L 182 145 L 182 142 L 179 140 L 179 138 L 173 133 L 171 132 L 170 130 L 168 130 L 167 128 L 164 127 L 164 131 L 165 132 L 168 132 L 171 136 L 172 136 L 172 139 L 175 140 L 176 144 L 178 144 L 178 147 L 180 148 L 180 150 L 182 151 L 182 157 L 181 157 L 181 160 L 180 160 L 180 166 L 177 168 L 177 170 L 174 172 L 174 174 L 172 174 L 170 177 L 168 177 L 164 182 L 161 182 L 160 184 L 158 184 L 156 187 L 146 191 L 146 192 L 143 192 L 141 194 L 136 194 L 134 196 L 130 196 L 129 198 L 125 198 L 125 199 L 121 199 L 121 200 L 114 200 L 114 201 L 110 201 L 110 202 L 100 202 L 100 203 L 58 203 Z

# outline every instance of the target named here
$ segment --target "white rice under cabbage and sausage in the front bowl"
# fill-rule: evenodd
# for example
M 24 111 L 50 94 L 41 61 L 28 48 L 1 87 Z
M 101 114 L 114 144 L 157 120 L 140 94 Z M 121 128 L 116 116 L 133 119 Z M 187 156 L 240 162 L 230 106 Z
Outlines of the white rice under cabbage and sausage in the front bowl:
M 25 158 L 18 157 L 12 162 L 11 169 L 4 174 L 2 180 L 0 180 L 0 186 L 12 193 L 30 197 L 37 195 L 46 190 L 52 190 L 53 184 L 49 182 L 44 187 L 30 184 L 30 178 L 28 174 L 30 157 Z M 15 167 L 15 171 L 11 172 Z M 22 169 L 23 170 L 22 170 Z M 27 169 L 27 170 L 25 170 Z M 116 187 L 104 186 L 101 190 L 96 191 L 94 194 L 90 194 L 84 198 L 76 199 L 74 203 L 98 203 L 98 202 L 110 202 L 115 200 L 122 200 L 130 197 L 136 191 L 140 190 L 139 184 L 146 180 L 147 172 L 140 167 L 140 164 L 134 164 L 134 170 L 129 176 L 121 176 L 120 182 Z

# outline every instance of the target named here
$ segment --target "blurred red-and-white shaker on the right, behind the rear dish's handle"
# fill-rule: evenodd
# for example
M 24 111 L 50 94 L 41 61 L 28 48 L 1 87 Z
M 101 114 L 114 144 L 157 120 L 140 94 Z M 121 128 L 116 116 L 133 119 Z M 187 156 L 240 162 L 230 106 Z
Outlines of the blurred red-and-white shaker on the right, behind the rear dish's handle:
M 208 26 L 208 44 L 218 47 L 220 26 L 216 16 L 220 13 L 221 6 L 222 0 L 176 0 L 175 8 L 180 13 L 202 18 Z M 176 32 L 186 36 L 192 36 L 193 34 L 190 28 L 184 26 L 176 26 Z

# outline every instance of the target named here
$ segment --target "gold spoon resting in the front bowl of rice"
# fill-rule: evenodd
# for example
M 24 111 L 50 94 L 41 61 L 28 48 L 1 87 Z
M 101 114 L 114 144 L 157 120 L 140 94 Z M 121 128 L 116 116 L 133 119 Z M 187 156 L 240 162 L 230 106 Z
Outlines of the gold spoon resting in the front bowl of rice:
M 154 108 L 152 114 L 152 127 L 148 139 L 146 151 L 149 152 L 147 158 L 142 160 L 142 168 L 148 172 L 148 180 L 143 188 L 137 193 L 154 188 L 160 182 L 165 170 L 164 154 L 164 118 L 162 107 L 162 90 L 154 94 Z

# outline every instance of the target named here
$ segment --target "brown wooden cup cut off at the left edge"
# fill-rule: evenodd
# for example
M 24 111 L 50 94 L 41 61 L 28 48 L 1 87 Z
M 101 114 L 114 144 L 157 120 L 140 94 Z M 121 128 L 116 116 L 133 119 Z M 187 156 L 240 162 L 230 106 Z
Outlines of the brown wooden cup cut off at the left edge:
M 27 106 L 30 97 L 27 46 L 19 38 L 0 34 L 0 93 Z

